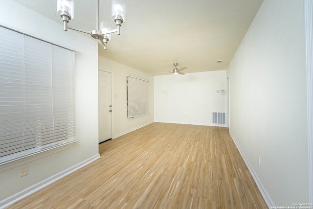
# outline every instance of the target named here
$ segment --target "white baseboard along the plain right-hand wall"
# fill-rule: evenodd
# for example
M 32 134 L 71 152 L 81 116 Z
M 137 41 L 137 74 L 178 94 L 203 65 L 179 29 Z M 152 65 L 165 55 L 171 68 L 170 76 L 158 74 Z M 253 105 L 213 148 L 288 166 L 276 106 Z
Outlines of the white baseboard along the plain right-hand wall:
M 268 192 L 266 191 L 266 189 L 264 188 L 264 186 L 262 185 L 258 175 L 256 175 L 255 171 L 253 170 L 251 164 L 249 163 L 249 161 L 247 160 L 244 152 L 242 151 L 242 149 L 240 148 L 239 144 L 237 143 L 235 137 L 231 134 L 231 132 L 229 131 L 229 135 L 231 136 L 231 138 L 233 139 L 234 143 L 236 144 L 237 146 L 237 149 L 239 150 L 240 152 L 240 155 L 241 157 L 244 159 L 245 163 L 246 163 L 246 166 L 248 167 L 256 185 L 258 186 L 266 204 L 268 205 L 268 208 L 272 208 L 272 207 L 275 207 L 275 204 L 274 202 L 272 201 L 272 199 L 270 198 L 270 196 L 268 195 Z

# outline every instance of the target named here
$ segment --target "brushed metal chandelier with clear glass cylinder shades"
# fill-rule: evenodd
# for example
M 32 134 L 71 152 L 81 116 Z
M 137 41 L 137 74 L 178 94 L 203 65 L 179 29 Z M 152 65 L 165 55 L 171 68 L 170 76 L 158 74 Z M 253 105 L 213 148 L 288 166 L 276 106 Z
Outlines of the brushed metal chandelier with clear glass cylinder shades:
M 101 22 L 99 24 L 99 0 L 96 0 L 96 29 L 91 32 L 85 32 L 82 30 L 67 27 L 67 23 L 74 18 L 74 0 L 57 0 L 57 13 L 61 16 L 64 22 L 64 30 L 68 29 L 76 30 L 83 33 L 88 33 L 92 38 L 98 39 L 107 49 L 107 43 L 111 40 L 111 33 L 120 35 L 120 28 L 122 23 L 125 22 L 125 3 L 124 0 L 112 0 L 112 20 L 116 23 L 117 29 L 111 30 L 110 24 L 107 22 Z

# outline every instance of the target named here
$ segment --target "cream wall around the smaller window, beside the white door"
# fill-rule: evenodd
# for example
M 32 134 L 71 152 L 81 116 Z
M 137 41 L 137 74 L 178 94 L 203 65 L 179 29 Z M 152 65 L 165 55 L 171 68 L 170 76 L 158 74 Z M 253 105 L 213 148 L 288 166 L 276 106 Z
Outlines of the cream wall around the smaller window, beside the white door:
M 137 128 L 152 123 L 154 120 L 153 76 L 99 56 L 99 70 L 112 72 L 112 138 L 119 137 Z M 149 81 L 149 114 L 127 119 L 126 112 L 126 76 L 131 75 Z

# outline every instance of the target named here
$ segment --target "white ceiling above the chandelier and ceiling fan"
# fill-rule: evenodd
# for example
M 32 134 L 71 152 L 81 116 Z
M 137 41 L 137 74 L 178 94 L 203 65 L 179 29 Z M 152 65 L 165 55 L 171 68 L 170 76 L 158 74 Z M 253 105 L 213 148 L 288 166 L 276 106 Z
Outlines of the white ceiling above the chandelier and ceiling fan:
M 63 24 L 56 13 L 57 0 L 14 1 Z M 172 71 L 173 63 L 187 67 L 185 73 L 225 70 L 262 2 L 126 0 L 121 35 L 112 34 L 107 50 L 98 41 L 98 54 L 152 75 Z M 115 29 L 111 0 L 100 0 L 99 8 L 100 22 L 112 23 Z M 94 30 L 96 0 L 75 0 L 74 15 L 69 26 Z M 217 60 L 224 61 L 217 64 Z

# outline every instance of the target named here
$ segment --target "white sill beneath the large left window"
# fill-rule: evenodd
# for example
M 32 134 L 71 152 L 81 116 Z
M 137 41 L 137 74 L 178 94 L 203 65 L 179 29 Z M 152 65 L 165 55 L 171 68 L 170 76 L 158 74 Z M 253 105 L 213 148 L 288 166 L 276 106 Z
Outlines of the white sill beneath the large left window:
M 61 152 L 63 150 L 69 149 L 75 144 L 76 141 L 77 140 L 70 141 L 64 145 L 53 147 L 51 149 L 47 149 L 47 150 L 44 150 L 42 152 L 37 152 L 37 153 L 31 154 L 29 156 L 25 156 L 25 157 L 13 160 L 13 161 L 3 162 L 0 164 L 0 172 L 3 172 L 5 170 L 9 170 L 9 169 L 14 168 L 14 167 L 21 166 L 21 165 L 26 164 L 26 163 L 33 162 L 33 161 L 36 161 L 38 159 L 44 158 L 46 156 L 53 155 L 57 152 Z

